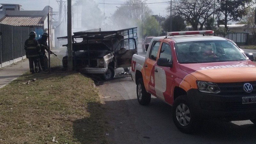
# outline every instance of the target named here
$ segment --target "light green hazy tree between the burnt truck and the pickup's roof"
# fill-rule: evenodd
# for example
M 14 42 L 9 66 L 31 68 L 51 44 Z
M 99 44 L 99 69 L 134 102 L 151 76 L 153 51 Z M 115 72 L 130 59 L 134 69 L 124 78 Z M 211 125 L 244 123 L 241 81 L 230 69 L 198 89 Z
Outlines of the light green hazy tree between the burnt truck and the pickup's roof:
M 159 23 L 154 16 L 150 16 L 143 24 L 143 37 L 158 36 Z M 160 29 L 160 31 L 162 28 Z

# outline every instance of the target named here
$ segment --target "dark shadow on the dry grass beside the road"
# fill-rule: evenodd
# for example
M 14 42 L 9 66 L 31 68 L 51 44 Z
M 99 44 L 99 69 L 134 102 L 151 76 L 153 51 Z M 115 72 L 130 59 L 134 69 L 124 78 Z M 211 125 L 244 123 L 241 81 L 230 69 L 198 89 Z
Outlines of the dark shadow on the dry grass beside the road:
M 73 137 L 83 144 L 108 143 L 105 138 L 107 121 L 103 114 L 101 103 L 88 103 L 88 117 L 73 122 Z

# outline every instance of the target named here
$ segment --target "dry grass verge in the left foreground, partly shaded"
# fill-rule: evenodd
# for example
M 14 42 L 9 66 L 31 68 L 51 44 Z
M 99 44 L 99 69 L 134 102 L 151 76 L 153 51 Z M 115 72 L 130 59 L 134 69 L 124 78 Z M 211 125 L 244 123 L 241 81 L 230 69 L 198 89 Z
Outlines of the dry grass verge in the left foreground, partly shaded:
M 27 72 L 0 89 L 1 144 L 109 143 L 107 129 L 98 89 L 80 73 Z

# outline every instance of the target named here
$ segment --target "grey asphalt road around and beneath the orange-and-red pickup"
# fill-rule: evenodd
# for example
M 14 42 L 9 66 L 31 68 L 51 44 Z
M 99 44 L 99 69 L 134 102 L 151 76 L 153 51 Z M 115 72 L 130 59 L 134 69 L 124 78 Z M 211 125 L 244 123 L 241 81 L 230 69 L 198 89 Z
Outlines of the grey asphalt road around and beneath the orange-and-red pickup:
M 139 54 L 143 54 L 139 51 Z M 98 86 L 106 98 L 109 138 L 116 143 L 255 143 L 256 127 L 251 121 L 205 121 L 196 134 L 184 134 L 172 122 L 172 107 L 152 96 L 148 106 L 139 105 L 131 77 L 114 79 Z

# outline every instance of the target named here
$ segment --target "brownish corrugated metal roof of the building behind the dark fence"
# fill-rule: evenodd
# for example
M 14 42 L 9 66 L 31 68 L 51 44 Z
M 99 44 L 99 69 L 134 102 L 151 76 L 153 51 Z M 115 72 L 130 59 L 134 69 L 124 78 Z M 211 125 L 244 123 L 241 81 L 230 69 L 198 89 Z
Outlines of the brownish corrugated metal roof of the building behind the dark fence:
M 44 16 L 5 16 L 0 23 L 12 26 L 44 26 Z

